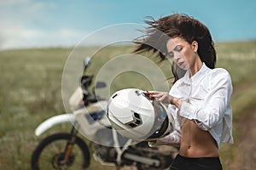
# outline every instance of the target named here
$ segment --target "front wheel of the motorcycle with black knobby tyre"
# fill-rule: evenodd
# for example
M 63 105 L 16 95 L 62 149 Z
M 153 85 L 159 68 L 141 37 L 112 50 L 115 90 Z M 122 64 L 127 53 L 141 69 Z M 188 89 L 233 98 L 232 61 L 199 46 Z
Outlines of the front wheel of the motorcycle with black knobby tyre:
M 71 138 L 70 133 L 56 133 L 43 139 L 32 153 L 32 170 L 79 170 L 89 167 L 90 151 L 84 140 L 78 136 L 74 141 L 72 150 L 69 150 L 70 153 L 65 153 Z

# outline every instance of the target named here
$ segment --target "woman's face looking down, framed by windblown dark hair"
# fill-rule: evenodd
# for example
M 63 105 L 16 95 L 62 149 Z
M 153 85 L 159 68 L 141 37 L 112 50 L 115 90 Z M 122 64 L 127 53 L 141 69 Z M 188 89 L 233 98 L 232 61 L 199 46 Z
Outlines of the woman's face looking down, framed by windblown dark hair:
M 183 70 L 188 70 L 195 65 L 197 42 L 186 42 L 181 37 L 170 38 L 166 43 L 168 57 Z

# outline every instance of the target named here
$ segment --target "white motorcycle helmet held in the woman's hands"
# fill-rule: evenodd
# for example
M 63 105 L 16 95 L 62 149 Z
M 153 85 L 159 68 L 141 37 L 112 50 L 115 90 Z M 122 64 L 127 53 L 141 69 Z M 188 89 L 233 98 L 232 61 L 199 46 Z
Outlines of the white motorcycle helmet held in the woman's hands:
M 159 139 L 174 128 L 166 106 L 148 99 L 143 90 L 136 88 L 114 93 L 108 101 L 107 115 L 118 133 L 134 140 Z

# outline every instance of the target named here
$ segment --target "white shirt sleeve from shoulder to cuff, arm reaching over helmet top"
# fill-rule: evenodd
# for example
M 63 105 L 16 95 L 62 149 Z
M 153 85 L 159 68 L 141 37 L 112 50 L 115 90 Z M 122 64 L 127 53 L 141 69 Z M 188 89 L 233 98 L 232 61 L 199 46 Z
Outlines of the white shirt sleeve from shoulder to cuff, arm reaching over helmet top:
M 178 111 L 180 116 L 193 120 L 198 127 L 206 131 L 222 121 L 232 94 L 230 74 L 225 70 L 218 70 L 216 75 L 213 73 L 210 84 L 210 91 L 203 106 L 198 107 L 188 100 L 183 100 Z

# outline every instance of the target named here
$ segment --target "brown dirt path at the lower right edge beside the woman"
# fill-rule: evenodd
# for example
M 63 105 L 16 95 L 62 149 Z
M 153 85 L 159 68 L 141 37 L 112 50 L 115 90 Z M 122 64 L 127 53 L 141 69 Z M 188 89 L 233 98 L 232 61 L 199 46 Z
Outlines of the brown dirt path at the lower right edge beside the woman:
M 241 139 L 234 150 L 234 160 L 231 169 L 253 170 L 256 169 L 256 108 L 249 111 L 249 114 L 241 116 L 238 122 L 238 129 L 241 132 Z

